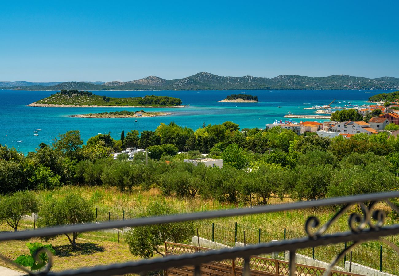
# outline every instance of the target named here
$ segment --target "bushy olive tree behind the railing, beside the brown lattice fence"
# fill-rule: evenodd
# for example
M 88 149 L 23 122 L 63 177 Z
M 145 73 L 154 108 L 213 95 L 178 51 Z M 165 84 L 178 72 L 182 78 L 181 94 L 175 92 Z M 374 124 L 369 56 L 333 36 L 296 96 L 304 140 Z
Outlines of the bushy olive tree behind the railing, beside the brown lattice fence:
M 177 213 L 177 211 L 168 206 L 165 201 L 154 201 L 142 216 L 170 215 L 172 213 Z M 154 254 L 164 256 L 161 248 L 165 241 L 188 242 L 191 241 L 192 235 L 194 235 L 192 223 L 185 221 L 136 227 L 126 233 L 125 240 L 134 256 L 151 258 Z

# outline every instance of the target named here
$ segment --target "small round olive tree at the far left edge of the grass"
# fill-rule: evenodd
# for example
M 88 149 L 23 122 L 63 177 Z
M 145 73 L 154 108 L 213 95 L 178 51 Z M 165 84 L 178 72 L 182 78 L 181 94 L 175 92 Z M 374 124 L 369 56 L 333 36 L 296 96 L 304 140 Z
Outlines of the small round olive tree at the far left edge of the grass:
M 17 231 L 21 218 L 38 211 L 38 199 L 33 192 L 19 191 L 4 196 L 0 201 L 0 219 Z

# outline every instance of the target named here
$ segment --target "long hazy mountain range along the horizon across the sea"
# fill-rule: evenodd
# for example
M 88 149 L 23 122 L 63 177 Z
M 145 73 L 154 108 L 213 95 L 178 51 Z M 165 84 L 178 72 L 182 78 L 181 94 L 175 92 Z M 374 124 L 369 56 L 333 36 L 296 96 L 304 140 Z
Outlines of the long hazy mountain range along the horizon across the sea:
M 221 77 L 211 73 L 198 73 L 183 79 L 166 80 L 149 76 L 134 81 L 55 82 L 30 83 L 2 82 L 2 89 L 17 90 L 237 90 L 237 89 L 399 89 L 399 78 L 381 77 L 369 79 L 348 75 L 329 77 L 303 77 L 280 75 L 264 77 Z

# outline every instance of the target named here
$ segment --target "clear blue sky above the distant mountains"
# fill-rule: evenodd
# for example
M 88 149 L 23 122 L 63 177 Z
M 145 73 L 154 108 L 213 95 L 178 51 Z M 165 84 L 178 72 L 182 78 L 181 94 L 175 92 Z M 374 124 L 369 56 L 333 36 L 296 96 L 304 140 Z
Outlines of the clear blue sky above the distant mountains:
M 3 1 L 1 81 L 399 77 L 397 1 Z

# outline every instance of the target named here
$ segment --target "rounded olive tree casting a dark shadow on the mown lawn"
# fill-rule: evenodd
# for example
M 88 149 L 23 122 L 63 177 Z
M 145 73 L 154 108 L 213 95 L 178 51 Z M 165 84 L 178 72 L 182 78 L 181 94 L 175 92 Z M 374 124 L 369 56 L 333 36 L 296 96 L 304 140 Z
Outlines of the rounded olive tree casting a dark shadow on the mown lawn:
M 72 225 L 93 220 L 94 209 L 91 203 L 80 195 L 71 193 L 60 199 L 48 199 L 39 212 L 38 226 Z M 78 232 L 65 233 L 74 248 L 78 234 Z M 55 239 L 55 237 L 44 238 L 44 240 L 49 239 Z

